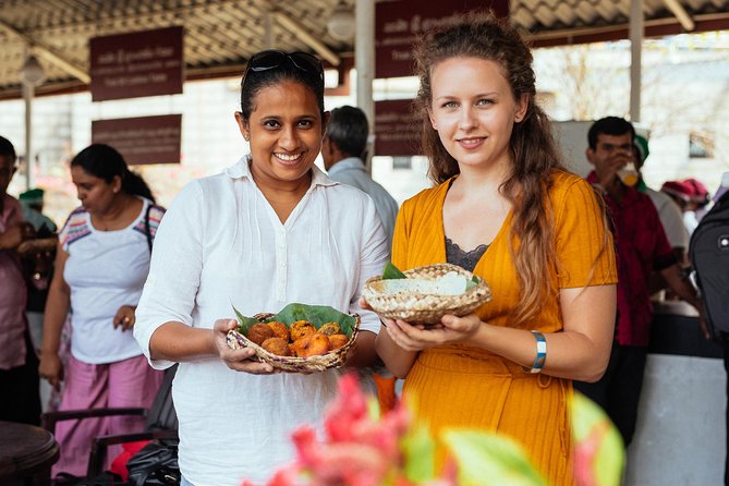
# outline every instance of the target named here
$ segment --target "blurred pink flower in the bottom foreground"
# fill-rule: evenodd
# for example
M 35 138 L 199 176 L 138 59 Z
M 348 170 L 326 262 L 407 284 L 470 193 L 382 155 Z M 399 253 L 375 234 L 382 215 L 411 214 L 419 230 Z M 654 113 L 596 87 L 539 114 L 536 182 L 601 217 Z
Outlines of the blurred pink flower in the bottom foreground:
M 311 426 L 297 428 L 292 434 L 295 461 L 277 471 L 267 486 L 455 486 L 454 461 L 439 477 L 421 467 L 433 460 L 427 451 L 433 453 L 435 442 L 427 434 L 410 430 L 412 420 L 404 404 L 398 402 L 378 417 L 373 400 L 355 375 L 342 377 L 324 417 L 323 439 Z M 422 464 L 405 464 L 406 457 Z

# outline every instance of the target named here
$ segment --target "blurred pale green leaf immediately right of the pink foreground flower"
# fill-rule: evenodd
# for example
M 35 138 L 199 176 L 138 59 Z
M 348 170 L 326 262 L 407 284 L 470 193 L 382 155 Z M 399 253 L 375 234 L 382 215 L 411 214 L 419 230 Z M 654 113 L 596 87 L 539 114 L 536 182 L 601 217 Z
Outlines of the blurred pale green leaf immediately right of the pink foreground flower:
M 500 486 L 547 486 L 512 440 L 476 430 L 446 430 L 442 434 L 458 464 L 458 484 L 482 485 L 484 478 Z

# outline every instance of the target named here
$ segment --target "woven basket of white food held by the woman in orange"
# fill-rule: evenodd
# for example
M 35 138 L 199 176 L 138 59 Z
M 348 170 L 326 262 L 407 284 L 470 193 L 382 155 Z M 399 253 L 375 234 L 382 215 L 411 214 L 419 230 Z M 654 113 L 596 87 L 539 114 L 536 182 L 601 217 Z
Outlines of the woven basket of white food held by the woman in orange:
M 403 274 L 408 278 L 435 280 L 449 271 L 455 271 L 471 279 L 474 275 L 451 264 L 435 264 L 412 268 Z M 381 317 L 401 319 L 412 324 L 437 324 L 446 314 L 465 316 L 491 300 L 491 290 L 486 281 L 475 276 L 476 285 L 458 295 L 427 294 L 420 292 L 378 292 L 372 283 L 382 280 L 373 277 L 367 280 L 363 295 L 369 306 Z

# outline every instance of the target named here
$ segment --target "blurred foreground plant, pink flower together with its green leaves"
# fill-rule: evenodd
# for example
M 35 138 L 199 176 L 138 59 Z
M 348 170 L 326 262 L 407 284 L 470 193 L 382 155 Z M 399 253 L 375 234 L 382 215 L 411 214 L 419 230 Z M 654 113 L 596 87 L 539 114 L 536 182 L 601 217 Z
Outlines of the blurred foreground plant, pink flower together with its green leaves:
M 575 399 L 576 478 L 580 486 L 612 486 L 620 476 L 622 447 L 612 425 L 588 400 Z M 597 411 L 595 411 L 595 409 Z M 602 415 L 600 415 L 602 414 Z M 607 428 L 606 428 L 607 427 Z M 302 426 L 293 435 L 296 459 L 277 471 L 268 486 L 546 486 L 546 481 L 510 439 L 482 430 L 449 429 L 440 437 L 450 451 L 440 476 L 435 472 L 435 439 L 415 424 L 402 402 L 379 416 L 355 375 L 339 381 L 339 394 L 324 420 L 324 437 Z M 618 437 L 619 439 L 619 437 Z M 603 467 L 618 467 L 611 474 Z M 252 486 L 245 482 L 243 486 Z

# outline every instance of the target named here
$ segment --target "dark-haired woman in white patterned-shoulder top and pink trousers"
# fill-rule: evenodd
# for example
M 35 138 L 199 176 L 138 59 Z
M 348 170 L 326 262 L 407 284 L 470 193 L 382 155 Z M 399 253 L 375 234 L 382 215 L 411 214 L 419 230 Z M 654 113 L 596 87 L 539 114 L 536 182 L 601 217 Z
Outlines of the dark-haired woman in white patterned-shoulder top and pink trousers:
M 131 329 L 165 209 L 155 205 L 144 180 L 108 145 L 78 153 L 71 161 L 71 178 L 82 206 L 59 235 L 39 374 L 56 388 L 63 380 L 60 410 L 150 406 L 161 374 L 147 365 Z M 71 355 L 63 366 L 59 343 L 69 313 Z M 83 475 L 92 437 L 143 426 L 139 417 L 59 423 L 61 458 L 53 473 Z

